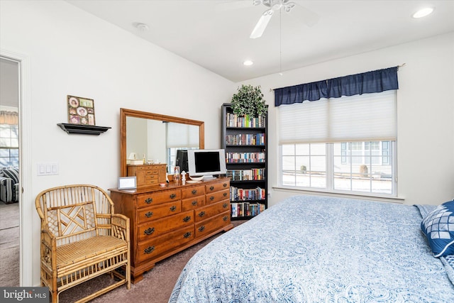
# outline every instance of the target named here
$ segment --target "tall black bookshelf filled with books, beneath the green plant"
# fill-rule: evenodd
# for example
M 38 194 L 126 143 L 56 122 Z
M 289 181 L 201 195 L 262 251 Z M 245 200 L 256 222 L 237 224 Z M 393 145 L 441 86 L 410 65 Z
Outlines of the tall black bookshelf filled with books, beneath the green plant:
M 231 219 L 250 219 L 268 208 L 267 116 L 238 116 L 225 103 L 221 120 L 221 146 L 231 178 Z

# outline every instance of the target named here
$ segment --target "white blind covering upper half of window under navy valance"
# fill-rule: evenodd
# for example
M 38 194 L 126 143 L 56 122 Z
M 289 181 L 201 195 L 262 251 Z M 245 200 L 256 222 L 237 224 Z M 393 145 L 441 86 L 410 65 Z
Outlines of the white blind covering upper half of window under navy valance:
M 396 91 L 282 104 L 279 144 L 396 139 Z

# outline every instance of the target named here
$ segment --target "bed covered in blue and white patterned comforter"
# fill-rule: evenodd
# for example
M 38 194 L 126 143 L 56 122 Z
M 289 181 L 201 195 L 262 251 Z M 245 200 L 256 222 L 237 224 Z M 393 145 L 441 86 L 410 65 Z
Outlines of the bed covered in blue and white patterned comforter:
M 285 199 L 199 250 L 169 302 L 454 302 L 454 260 L 421 233 L 434 208 Z

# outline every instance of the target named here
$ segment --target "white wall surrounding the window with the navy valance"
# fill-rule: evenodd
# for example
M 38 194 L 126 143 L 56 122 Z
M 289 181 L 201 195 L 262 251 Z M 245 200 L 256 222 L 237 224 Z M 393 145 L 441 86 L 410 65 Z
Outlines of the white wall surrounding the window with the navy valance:
M 277 109 L 270 89 L 402 65 L 397 91 L 398 195 L 405 204 L 454 198 L 454 33 L 238 83 L 261 85 L 269 112 L 269 187 L 277 186 Z M 301 122 L 304 127 L 304 122 Z M 270 204 L 294 192 L 271 190 Z

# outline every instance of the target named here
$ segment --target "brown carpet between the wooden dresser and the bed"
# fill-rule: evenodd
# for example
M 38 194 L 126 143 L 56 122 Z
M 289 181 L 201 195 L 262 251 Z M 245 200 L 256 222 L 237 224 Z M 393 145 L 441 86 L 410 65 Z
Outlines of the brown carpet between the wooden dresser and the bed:
M 233 221 L 234 226 L 238 226 L 245 221 Z M 175 282 L 179 277 L 179 273 L 183 270 L 187 261 L 200 248 L 206 246 L 207 243 L 220 236 L 222 233 L 213 236 L 201 243 L 187 248 L 180 253 L 172 255 L 172 257 L 160 261 L 155 265 L 155 268 L 145 272 L 143 280 L 131 284 L 131 290 L 126 290 L 126 286 L 117 287 L 111 292 L 108 292 L 101 297 L 97 297 L 92 302 L 94 303 L 116 303 L 116 302 L 134 302 L 134 303 L 167 303 L 172 293 Z M 75 302 L 77 299 L 84 297 L 90 292 L 95 292 L 111 283 L 108 275 L 97 277 L 93 280 L 85 282 L 77 287 L 72 287 L 60 294 L 61 303 Z

